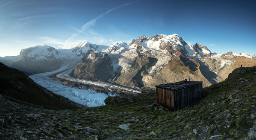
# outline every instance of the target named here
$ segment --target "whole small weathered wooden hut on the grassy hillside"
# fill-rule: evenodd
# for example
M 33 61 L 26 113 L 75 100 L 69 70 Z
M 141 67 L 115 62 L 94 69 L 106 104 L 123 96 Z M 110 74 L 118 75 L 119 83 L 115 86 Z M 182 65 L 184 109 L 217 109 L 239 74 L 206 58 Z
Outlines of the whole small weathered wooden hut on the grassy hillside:
M 203 94 L 203 82 L 180 81 L 156 86 L 156 101 L 171 110 L 182 109 L 200 100 Z

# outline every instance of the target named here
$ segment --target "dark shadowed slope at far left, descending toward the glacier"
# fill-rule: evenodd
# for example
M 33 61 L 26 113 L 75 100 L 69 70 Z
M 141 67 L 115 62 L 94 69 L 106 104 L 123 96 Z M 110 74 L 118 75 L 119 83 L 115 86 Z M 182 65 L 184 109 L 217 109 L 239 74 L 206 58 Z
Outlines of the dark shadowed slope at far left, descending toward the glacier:
M 47 109 L 76 108 L 67 98 L 53 94 L 21 71 L 11 69 L 3 63 L 0 63 L 0 94 L 10 100 L 31 103 Z

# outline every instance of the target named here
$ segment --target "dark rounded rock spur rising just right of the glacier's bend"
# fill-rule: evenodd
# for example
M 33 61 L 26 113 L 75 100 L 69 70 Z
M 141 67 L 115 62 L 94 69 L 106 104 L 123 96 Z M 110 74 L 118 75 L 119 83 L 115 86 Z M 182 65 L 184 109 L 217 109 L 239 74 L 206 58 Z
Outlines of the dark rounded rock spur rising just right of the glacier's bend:
M 106 53 L 89 51 L 74 69 L 74 77 L 108 81 L 113 77 L 111 58 Z

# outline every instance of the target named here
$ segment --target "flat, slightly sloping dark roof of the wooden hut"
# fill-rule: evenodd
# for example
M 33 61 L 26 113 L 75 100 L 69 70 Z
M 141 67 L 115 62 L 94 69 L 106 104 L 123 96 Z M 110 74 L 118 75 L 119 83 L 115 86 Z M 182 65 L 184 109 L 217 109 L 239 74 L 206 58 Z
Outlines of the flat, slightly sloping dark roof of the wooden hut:
M 202 83 L 201 81 L 180 81 L 176 83 L 168 83 L 168 84 L 162 84 L 158 85 L 156 87 L 162 88 L 162 89 L 170 89 L 170 90 L 178 90 L 178 89 L 183 89 L 188 86 L 194 86 L 199 83 Z

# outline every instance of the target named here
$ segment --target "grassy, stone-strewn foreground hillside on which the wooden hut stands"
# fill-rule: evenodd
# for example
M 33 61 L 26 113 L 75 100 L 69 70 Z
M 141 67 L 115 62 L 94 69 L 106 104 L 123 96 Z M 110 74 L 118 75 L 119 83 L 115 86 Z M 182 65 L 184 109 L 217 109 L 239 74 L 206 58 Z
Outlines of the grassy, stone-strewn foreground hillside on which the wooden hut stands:
M 106 106 L 53 111 L 0 96 L 1 140 L 255 140 L 256 67 L 204 88 L 192 106 L 170 111 L 155 93 L 108 97 Z

